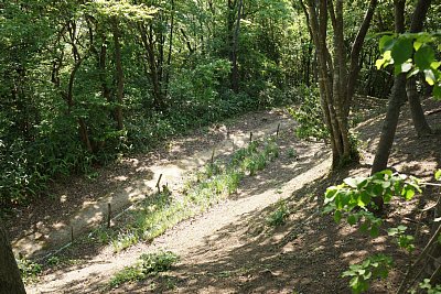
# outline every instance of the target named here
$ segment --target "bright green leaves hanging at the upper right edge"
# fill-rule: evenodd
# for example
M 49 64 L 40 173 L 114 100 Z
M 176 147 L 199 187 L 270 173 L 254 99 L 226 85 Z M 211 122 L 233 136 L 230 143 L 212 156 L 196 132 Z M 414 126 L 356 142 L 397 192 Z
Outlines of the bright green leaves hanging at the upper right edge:
M 383 56 L 376 62 L 377 69 L 392 64 L 396 75 L 406 73 L 411 77 L 422 73 L 426 81 L 433 86 L 433 96 L 441 98 L 441 62 L 434 50 L 440 51 L 440 37 L 441 33 L 384 35 L 379 41 Z

